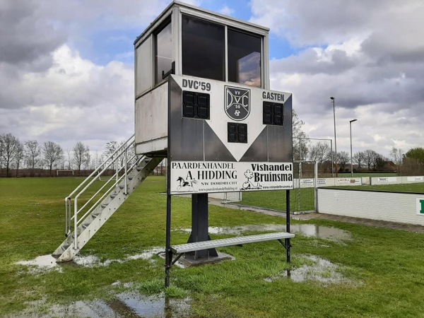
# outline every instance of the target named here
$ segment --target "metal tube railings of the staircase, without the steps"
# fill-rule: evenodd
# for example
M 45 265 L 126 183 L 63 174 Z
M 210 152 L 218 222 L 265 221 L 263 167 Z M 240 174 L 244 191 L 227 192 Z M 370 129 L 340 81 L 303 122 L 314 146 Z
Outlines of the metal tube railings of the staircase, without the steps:
M 142 157 L 139 157 L 138 155 L 132 155 L 131 158 L 128 156 L 128 149 L 134 146 L 134 135 L 131 136 L 128 140 L 126 140 L 122 146 L 119 146 L 114 153 L 112 153 L 107 159 L 99 165 L 97 169 L 95 169 L 86 179 L 81 182 L 81 184 L 76 187 L 69 196 L 66 196 L 65 198 L 65 213 L 66 213 L 66 220 L 65 220 L 65 235 L 68 236 L 71 233 L 72 223 L 73 223 L 73 232 L 75 235 L 74 238 L 74 244 L 75 248 L 78 248 L 78 225 L 81 224 L 81 221 L 85 220 L 85 218 L 95 209 L 99 206 L 99 204 L 105 199 L 105 197 L 109 194 L 111 194 L 114 190 L 119 192 L 119 184 L 122 182 L 122 179 L 124 179 L 124 194 L 127 194 L 128 192 L 128 173 L 131 172 L 134 168 L 136 168 L 137 165 L 143 160 Z M 119 167 L 119 161 L 121 157 L 124 157 L 123 165 Z M 129 164 L 130 163 L 130 164 Z M 115 165 L 115 173 L 107 179 L 105 184 L 98 189 L 93 196 L 91 196 L 85 204 L 83 204 L 81 207 L 78 208 L 78 199 L 81 197 L 82 194 L 84 194 L 90 186 L 94 184 L 94 182 L 97 179 L 100 179 L 100 177 L 107 171 L 110 170 L 110 166 Z M 121 174 L 121 175 L 119 175 Z M 114 182 L 113 182 L 114 181 Z M 110 184 L 113 182 L 112 184 Z M 110 185 L 109 188 L 107 186 Z M 96 198 L 100 195 L 100 198 L 95 201 L 95 203 L 88 208 L 88 210 L 83 213 L 83 216 L 80 216 L 78 218 L 78 215 L 84 211 L 86 207 Z M 73 201 L 73 213 L 72 210 L 72 201 Z

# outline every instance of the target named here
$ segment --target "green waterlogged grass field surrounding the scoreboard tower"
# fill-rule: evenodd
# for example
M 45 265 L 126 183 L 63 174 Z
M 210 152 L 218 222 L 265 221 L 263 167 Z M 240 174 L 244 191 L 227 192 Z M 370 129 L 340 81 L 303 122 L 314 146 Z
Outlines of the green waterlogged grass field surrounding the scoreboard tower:
M 0 179 L 0 317 L 49 317 L 54 306 L 110 303 L 126 291 L 164 293 L 163 259 L 132 257 L 165 245 L 163 177 L 148 177 L 82 250 L 81 256 L 97 257 L 103 266 L 68 264 L 60 271 L 37 271 L 16 264 L 59 246 L 64 239 L 64 196 L 79 182 Z M 190 202 L 175 197 L 172 206 L 172 243 L 182 243 L 189 236 L 181 229 L 190 228 Z M 211 206 L 209 223 L 240 229 L 284 225 L 285 219 Z M 329 220 L 293 221 L 308 223 L 338 228 L 351 238 L 296 235 L 291 278 L 283 275 L 288 265 L 276 242 L 222 248 L 220 252 L 235 260 L 173 267 L 167 297 L 187 298 L 188 317 L 424 317 L 424 234 Z M 66 311 L 57 315 L 64 317 Z

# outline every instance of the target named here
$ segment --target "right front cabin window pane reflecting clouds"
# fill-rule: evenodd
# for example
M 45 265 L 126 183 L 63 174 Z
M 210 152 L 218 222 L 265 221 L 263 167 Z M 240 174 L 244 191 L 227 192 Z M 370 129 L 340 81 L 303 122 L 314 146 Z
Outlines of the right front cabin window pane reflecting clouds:
M 228 29 L 228 81 L 261 87 L 261 38 Z

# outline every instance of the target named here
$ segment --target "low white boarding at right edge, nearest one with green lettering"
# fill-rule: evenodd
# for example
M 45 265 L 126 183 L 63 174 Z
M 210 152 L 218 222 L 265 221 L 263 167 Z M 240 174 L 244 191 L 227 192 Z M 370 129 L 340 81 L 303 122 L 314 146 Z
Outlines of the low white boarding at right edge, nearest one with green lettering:
M 317 212 L 424 225 L 424 194 L 317 189 Z

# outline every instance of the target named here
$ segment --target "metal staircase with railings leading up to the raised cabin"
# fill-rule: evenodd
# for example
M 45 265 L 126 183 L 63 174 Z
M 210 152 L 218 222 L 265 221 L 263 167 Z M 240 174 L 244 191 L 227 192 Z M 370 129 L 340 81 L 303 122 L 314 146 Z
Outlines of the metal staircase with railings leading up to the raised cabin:
M 53 252 L 57 261 L 71 261 L 163 160 L 128 155 L 133 148 L 134 135 L 66 196 L 66 240 Z

